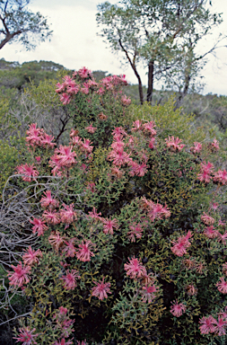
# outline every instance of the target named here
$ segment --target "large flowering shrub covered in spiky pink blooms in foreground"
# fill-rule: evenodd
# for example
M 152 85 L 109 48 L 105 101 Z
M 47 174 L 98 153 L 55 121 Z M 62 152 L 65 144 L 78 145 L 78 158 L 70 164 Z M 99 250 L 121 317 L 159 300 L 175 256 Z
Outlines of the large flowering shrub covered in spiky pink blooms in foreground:
M 23 344 L 168 344 L 173 335 L 207 344 L 225 334 L 227 181 L 210 162 L 218 143 L 159 136 L 153 119 L 124 127 L 121 84 L 97 84 L 85 67 L 66 75 L 57 93 L 79 114 L 68 145 L 36 124 L 27 132 L 31 160 L 16 174 L 30 187 L 39 246 L 8 271 L 32 305 L 16 335 Z

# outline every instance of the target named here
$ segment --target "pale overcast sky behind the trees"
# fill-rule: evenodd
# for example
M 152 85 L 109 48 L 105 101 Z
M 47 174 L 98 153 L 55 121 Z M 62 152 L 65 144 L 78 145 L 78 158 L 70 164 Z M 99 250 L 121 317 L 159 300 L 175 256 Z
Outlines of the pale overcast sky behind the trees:
M 128 82 L 137 84 L 131 67 L 122 66 L 120 63 L 123 53 L 113 54 L 103 42 L 103 38 L 97 35 L 100 29 L 97 27 L 95 14 L 98 12 L 97 5 L 102 2 L 104 0 L 31 0 L 31 11 L 48 17 L 50 29 L 53 31 L 51 41 L 40 43 L 34 51 L 26 51 L 15 43 L 6 44 L 0 50 L 0 58 L 19 61 L 21 64 L 33 60 L 53 61 L 75 70 L 86 66 L 92 71 L 126 74 Z M 118 0 L 109 2 L 117 4 Z M 214 38 L 220 31 L 227 34 L 227 1 L 213 0 L 212 9 L 213 12 L 223 13 L 223 23 L 219 29 L 214 30 L 213 37 L 207 38 L 199 45 L 198 50 L 202 53 L 212 47 Z M 205 88 L 202 93 L 227 95 L 227 48 L 218 49 L 216 58 L 209 55 L 208 60 L 203 70 Z M 142 83 L 147 84 L 146 69 L 144 66 L 138 69 Z M 155 83 L 154 88 L 161 89 L 162 84 Z

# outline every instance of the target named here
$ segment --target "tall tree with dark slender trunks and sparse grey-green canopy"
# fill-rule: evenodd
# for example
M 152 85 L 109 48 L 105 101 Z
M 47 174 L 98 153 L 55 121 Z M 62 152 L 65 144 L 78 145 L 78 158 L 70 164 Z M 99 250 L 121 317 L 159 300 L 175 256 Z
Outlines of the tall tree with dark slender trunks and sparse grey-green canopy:
M 152 102 L 154 79 L 181 71 L 179 60 L 184 58 L 196 64 L 197 57 L 191 59 L 191 56 L 195 56 L 197 42 L 222 22 L 221 14 L 210 13 L 206 3 L 206 0 L 123 0 L 121 6 L 109 2 L 98 5 L 96 19 L 103 25 L 100 35 L 113 51 L 124 52 L 125 61 L 138 79 L 141 103 L 144 94 L 139 63 L 148 68 L 147 102 Z M 191 71 L 192 65 L 188 66 Z M 186 93 L 189 82 L 188 75 Z

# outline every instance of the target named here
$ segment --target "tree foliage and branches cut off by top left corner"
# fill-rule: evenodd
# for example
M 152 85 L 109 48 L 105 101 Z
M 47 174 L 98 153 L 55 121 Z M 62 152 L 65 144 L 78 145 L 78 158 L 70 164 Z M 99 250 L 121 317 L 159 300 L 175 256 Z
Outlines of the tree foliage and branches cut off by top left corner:
M 20 42 L 25 49 L 35 49 L 37 41 L 48 39 L 47 18 L 32 13 L 27 5 L 31 0 L 0 0 L 0 49 L 6 43 Z

